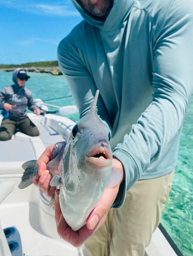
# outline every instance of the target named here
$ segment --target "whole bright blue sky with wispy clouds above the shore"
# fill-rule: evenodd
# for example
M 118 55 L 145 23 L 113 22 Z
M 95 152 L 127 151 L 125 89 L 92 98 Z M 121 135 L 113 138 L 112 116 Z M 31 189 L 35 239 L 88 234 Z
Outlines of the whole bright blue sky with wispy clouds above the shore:
M 81 20 L 71 0 L 0 0 L 0 64 L 56 60 Z

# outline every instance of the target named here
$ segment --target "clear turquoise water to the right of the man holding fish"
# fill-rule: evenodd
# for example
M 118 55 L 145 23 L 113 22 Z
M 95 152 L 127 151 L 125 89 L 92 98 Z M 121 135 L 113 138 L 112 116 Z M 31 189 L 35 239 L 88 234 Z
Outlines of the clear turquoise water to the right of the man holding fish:
M 184 256 L 193 255 L 193 95 L 180 140 L 173 186 L 161 222 Z

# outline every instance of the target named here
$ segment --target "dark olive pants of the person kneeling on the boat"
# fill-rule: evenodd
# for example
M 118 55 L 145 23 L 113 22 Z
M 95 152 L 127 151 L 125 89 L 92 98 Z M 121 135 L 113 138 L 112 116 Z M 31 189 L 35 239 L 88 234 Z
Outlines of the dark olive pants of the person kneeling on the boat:
M 28 117 L 25 117 L 19 121 L 13 121 L 9 118 L 3 119 L 0 127 L 0 141 L 8 141 L 11 139 L 15 129 L 19 129 L 21 132 L 29 136 L 39 136 L 38 128 L 31 122 Z

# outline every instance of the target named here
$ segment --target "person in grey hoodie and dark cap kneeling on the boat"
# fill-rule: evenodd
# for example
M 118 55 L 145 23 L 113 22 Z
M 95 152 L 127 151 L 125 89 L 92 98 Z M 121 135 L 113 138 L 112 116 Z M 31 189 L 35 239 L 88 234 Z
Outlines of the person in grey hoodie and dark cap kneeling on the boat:
M 4 87 L 0 92 L 0 109 L 3 109 L 0 141 L 11 139 L 15 129 L 29 136 L 39 135 L 38 128 L 27 117 L 26 112 L 26 107 L 28 107 L 35 114 L 40 114 L 40 109 L 33 102 L 31 91 L 25 88 L 28 78 L 30 77 L 24 69 L 17 68 L 13 72 L 15 84 Z

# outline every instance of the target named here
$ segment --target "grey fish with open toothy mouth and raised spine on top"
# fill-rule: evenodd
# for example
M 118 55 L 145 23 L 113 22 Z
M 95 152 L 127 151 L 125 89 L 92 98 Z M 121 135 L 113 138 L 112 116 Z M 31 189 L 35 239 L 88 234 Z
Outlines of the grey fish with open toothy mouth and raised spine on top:
M 52 160 L 46 165 L 53 178 L 50 186 L 59 188 L 61 212 L 73 231 L 79 230 L 98 203 L 106 187 L 122 178 L 119 168 L 112 168 L 110 131 L 97 116 L 97 90 L 91 109 L 72 128 L 67 142 L 58 142 Z M 19 188 L 33 183 L 38 172 L 36 160 L 25 162 Z M 52 202 L 52 203 L 51 203 Z M 54 205 L 54 197 L 50 205 Z

